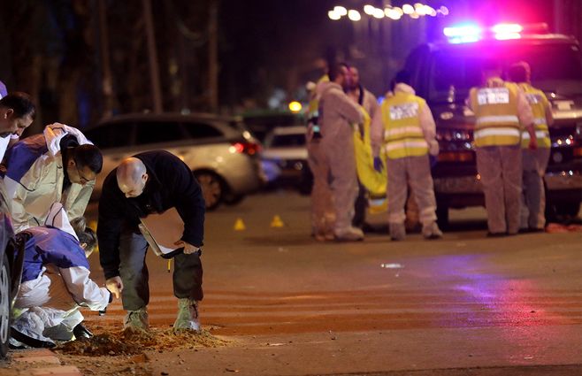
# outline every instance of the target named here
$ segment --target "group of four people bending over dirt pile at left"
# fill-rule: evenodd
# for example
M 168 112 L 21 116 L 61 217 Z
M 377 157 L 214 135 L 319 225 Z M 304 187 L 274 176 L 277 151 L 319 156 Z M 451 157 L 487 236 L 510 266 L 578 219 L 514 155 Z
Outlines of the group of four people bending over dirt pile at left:
M 175 242 L 180 252 L 174 257 L 178 312 L 173 327 L 199 331 L 205 206 L 188 165 L 164 150 L 122 160 L 103 184 L 95 233 L 84 213 L 103 167 L 101 151 L 79 129 L 59 123 L 19 140 L 34 121 L 35 105 L 21 92 L 2 90 L 0 97 L 0 189 L 24 248 L 11 347 L 50 348 L 91 337 L 80 307 L 104 311 L 114 297 L 126 310 L 124 328 L 147 331 L 148 242 L 138 225 L 170 208 L 184 222 Z M 104 287 L 89 275 L 88 256 L 97 241 Z

